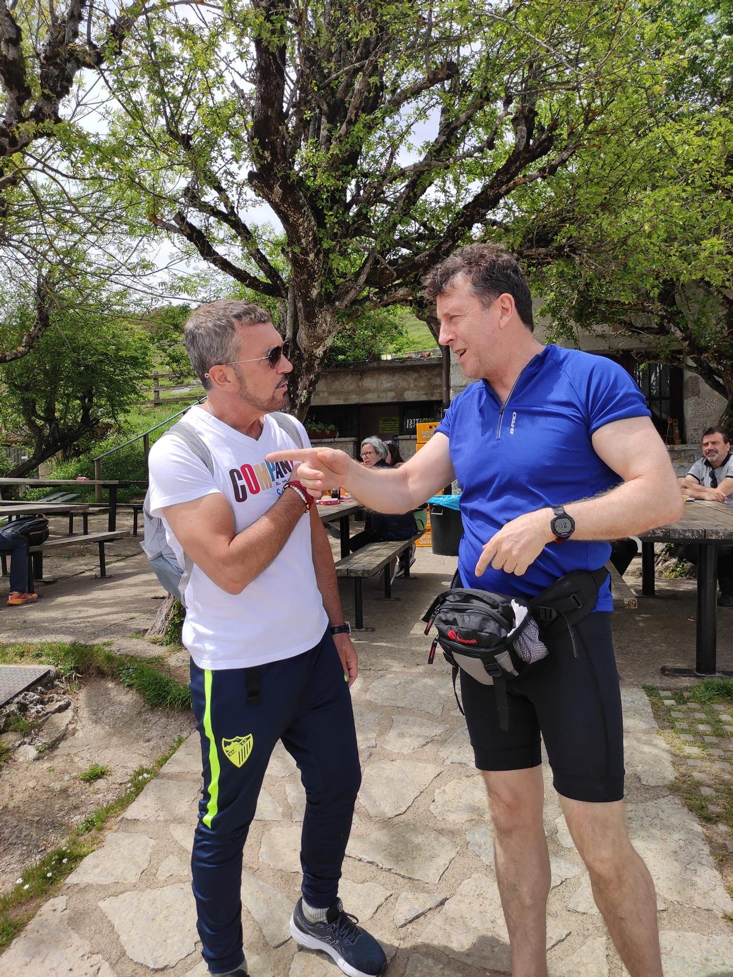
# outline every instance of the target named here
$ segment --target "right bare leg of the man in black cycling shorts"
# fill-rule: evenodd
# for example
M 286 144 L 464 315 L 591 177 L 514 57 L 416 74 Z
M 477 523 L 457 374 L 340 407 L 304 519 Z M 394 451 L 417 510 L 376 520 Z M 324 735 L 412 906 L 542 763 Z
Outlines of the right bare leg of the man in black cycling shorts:
M 590 804 L 561 796 L 560 803 L 590 873 L 595 905 L 631 977 L 662 977 L 654 882 L 631 846 L 624 802 Z

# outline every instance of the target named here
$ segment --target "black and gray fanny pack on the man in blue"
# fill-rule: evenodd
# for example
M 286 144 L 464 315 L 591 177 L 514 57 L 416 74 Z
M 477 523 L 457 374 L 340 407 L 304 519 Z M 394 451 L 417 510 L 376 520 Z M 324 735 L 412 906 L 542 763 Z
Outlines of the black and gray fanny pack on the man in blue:
M 577 657 L 573 625 L 590 615 L 607 575 L 604 567 L 566 573 L 537 597 L 524 601 L 462 587 L 456 573 L 451 589 L 438 594 L 423 616 L 428 624 L 426 634 L 433 624 L 437 628 L 428 662 L 432 664 L 440 645 L 453 667 L 454 692 L 459 668 L 483 685 L 496 686 L 500 726 L 509 729 L 506 682 L 546 658 L 546 639 L 565 630 L 570 633 Z M 463 712 L 460 701 L 458 705 Z

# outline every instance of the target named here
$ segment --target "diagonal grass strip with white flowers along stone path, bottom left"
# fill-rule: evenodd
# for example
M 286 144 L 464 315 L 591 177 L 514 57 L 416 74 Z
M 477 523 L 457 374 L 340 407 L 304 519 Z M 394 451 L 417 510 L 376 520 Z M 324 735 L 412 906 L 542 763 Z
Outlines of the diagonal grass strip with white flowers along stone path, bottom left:
M 157 776 L 160 768 L 173 756 L 181 743 L 183 737 L 177 737 L 171 748 L 159 756 L 151 767 L 139 767 L 121 797 L 93 811 L 68 835 L 63 844 L 49 852 L 34 866 L 23 871 L 14 888 L 7 895 L 0 897 L 0 951 L 7 947 L 20 932 L 38 909 L 39 902 L 52 895 L 66 875 L 99 846 L 102 838 L 92 832 L 99 832 L 110 818 L 120 814 L 132 804 L 143 786 Z M 90 770 L 92 769 L 94 768 L 90 767 Z

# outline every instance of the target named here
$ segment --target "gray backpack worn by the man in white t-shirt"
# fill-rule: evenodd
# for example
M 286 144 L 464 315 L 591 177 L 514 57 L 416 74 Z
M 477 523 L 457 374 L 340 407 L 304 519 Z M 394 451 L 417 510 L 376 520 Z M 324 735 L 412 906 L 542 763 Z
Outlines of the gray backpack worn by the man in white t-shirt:
M 284 431 L 297 446 L 303 447 L 301 432 L 289 414 L 274 411 L 268 416 L 272 418 L 280 430 Z M 179 441 L 183 441 L 183 444 L 191 454 L 194 454 L 200 461 L 203 461 L 211 475 L 214 475 L 214 459 L 212 458 L 211 451 L 201 436 L 189 424 L 186 424 L 185 420 L 180 420 L 177 424 L 174 424 L 163 435 L 164 438 L 170 436 L 174 436 Z M 167 593 L 178 597 L 183 606 L 185 606 L 183 594 L 193 572 L 193 560 L 184 553 L 184 566 L 183 569 L 181 568 L 176 559 L 175 552 L 166 539 L 163 520 L 159 516 L 153 516 L 150 513 L 149 488 L 145 493 L 145 501 L 143 503 L 143 526 L 143 542 L 140 545 L 143 553 L 150 561 L 153 573 L 157 576 L 163 589 Z

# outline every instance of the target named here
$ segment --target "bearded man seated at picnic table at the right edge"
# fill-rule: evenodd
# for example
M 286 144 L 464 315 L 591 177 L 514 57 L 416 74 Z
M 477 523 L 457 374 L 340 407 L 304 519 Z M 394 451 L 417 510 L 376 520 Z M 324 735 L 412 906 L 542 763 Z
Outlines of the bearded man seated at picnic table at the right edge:
M 709 427 L 703 434 L 703 457 L 679 480 L 682 493 L 689 498 L 706 499 L 733 505 L 733 452 L 727 434 L 720 428 Z M 684 559 L 697 566 L 698 548 L 690 543 L 684 546 Z M 717 598 L 721 608 L 733 607 L 733 546 L 717 547 Z

